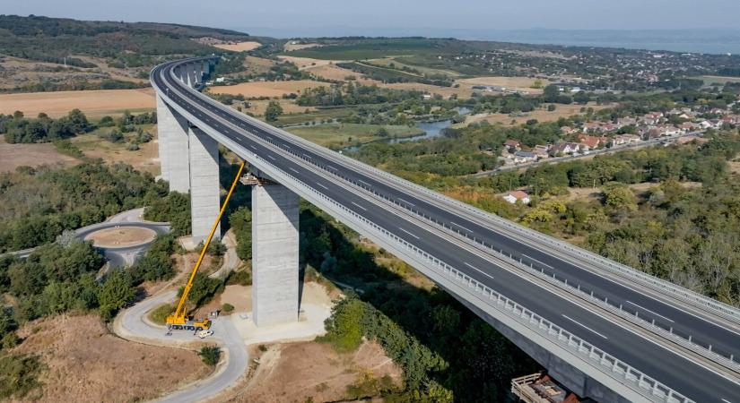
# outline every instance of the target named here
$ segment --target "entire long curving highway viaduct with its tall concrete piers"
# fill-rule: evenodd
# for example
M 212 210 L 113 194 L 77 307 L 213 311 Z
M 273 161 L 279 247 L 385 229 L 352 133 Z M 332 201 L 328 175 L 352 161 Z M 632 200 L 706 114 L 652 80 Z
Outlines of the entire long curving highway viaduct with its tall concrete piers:
M 198 90 L 213 58 L 152 69 L 161 176 L 193 236 L 220 208 L 218 144 L 252 190 L 258 326 L 298 320 L 298 200 L 414 266 L 559 382 L 601 402 L 740 403 L 740 311 L 431 192 L 243 115 Z

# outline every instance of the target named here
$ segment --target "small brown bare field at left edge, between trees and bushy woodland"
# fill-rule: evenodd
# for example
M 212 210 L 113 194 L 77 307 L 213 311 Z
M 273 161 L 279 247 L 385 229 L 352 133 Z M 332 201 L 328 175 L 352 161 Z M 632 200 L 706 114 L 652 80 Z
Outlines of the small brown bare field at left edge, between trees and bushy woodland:
M 0 172 L 14 171 L 21 166 L 38 167 L 39 165 L 58 165 L 72 167 L 79 159 L 60 154 L 54 145 L 46 142 L 40 144 L 8 144 L 5 136 L 0 135 Z

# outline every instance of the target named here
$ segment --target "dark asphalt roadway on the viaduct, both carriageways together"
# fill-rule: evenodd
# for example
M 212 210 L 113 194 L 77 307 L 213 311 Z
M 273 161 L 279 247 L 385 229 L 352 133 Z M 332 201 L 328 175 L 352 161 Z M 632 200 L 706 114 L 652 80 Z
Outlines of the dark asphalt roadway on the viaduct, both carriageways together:
M 415 218 L 423 216 L 437 223 L 445 223 L 446 227 L 456 227 L 460 233 L 517 256 L 539 270 L 554 274 L 558 279 L 568 279 L 574 287 L 578 285 L 587 292 L 592 290 L 602 299 L 608 297 L 612 304 L 633 309 L 640 313 L 640 317 L 668 322 L 676 332 L 692 335 L 695 340 L 712 344 L 715 349 L 740 356 L 740 333 L 736 330 L 687 312 L 675 304 L 645 295 L 640 289 L 631 287 L 626 280 L 606 279 L 592 268 L 572 262 L 541 245 L 525 242 L 501 227 L 470 219 L 459 211 L 432 201 L 424 193 L 389 183 L 373 174 L 370 168 L 350 164 L 330 150 L 307 146 L 289 133 L 231 109 L 224 109 L 212 99 L 183 89 L 182 84 L 171 77 L 171 66 L 163 64 L 157 67 L 152 72 L 152 81 L 160 89 L 170 89 L 170 101 L 190 114 L 188 120 L 200 127 L 210 126 L 238 144 L 239 147 L 232 151 L 240 157 L 250 160 L 258 156 L 268 160 L 274 167 L 289 172 L 316 192 L 326 194 L 333 201 L 384 227 L 409 244 L 432 253 L 440 261 L 697 402 L 727 402 L 740 396 L 740 383 L 736 378 L 719 375 L 691 358 L 667 347 L 658 347 L 654 341 L 631 331 L 624 323 L 612 322 L 590 309 L 573 304 L 569 299 L 538 289 L 524 277 L 498 266 L 488 254 L 452 244 L 440 230 L 422 226 Z M 285 185 L 290 187 L 290 184 Z M 366 191 L 382 195 L 385 200 L 401 205 L 407 212 L 389 210 L 385 201 L 373 200 Z

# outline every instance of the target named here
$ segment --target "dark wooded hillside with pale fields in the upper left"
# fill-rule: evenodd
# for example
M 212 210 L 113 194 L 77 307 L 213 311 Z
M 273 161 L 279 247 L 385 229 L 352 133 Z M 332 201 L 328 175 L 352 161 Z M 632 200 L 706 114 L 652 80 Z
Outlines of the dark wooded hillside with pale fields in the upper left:
M 0 90 L 90 90 L 148 85 L 154 64 L 173 56 L 224 53 L 247 33 L 153 22 L 76 21 L 0 15 Z

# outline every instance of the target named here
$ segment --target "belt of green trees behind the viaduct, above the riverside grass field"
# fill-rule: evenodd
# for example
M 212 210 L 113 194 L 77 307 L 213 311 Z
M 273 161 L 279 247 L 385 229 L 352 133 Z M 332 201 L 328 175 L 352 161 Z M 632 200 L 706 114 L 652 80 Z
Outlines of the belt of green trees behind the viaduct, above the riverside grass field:
M 335 84 L 331 87 L 306 89 L 298 96 L 296 103 L 301 107 L 340 106 L 361 104 L 396 103 L 406 99 L 422 99 L 421 91 L 392 90 L 376 85 Z

